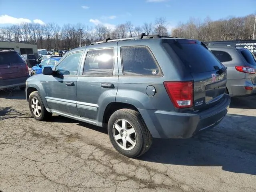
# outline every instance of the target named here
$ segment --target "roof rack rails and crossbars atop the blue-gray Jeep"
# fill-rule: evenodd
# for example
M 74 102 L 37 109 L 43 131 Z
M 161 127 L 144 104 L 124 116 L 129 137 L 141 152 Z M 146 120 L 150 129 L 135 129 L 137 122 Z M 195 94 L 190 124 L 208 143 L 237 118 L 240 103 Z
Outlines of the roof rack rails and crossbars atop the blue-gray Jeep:
M 128 40 L 135 40 L 135 39 L 153 39 L 153 38 L 174 38 L 170 36 L 161 36 L 161 35 L 146 35 L 145 33 L 142 33 L 138 35 L 137 37 L 129 37 L 129 38 L 121 38 L 121 39 L 104 39 L 103 41 L 93 42 L 90 45 L 100 44 L 100 43 L 106 43 L 106 42 L 115 42 L 115 41 L 128 41 Z

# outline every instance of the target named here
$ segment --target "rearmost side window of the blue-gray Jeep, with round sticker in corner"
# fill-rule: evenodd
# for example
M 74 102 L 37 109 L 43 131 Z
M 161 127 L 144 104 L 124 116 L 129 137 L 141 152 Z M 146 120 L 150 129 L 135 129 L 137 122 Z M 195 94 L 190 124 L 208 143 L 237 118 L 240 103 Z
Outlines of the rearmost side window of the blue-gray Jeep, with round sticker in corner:
M 122 51 L 122 65 L 124 75 L 140 76 L 160 74 L 160 70 L 146 47 L 123 47 Z

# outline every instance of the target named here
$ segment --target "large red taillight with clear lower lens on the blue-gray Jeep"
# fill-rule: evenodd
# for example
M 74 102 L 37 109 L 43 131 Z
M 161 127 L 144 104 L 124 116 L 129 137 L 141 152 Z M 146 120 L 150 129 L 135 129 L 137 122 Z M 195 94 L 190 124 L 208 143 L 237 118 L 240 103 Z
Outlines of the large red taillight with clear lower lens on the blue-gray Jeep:
M 166 81 L 164 87 L 175 108 L 193 106 L 194 86 L 192 81 Z

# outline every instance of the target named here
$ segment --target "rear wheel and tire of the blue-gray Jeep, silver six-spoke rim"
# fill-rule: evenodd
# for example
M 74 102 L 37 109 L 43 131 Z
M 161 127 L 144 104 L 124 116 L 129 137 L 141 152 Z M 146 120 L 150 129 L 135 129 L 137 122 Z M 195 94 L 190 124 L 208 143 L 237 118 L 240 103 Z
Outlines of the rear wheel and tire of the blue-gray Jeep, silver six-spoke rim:
M 131 109 L 120 109 L 110 116 L 108 136 L 114 148 L 130 158 L 146 153 L 152 144 L 152 135 L 142 116 Z

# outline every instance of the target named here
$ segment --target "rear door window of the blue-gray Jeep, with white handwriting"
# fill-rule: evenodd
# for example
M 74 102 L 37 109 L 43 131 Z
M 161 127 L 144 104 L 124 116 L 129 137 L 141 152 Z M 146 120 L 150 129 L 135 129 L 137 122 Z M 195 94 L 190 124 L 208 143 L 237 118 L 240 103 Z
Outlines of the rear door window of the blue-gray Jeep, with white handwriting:
M 110 76 L 113 74 L 114 49 L 89 50 L 83 75 Z

